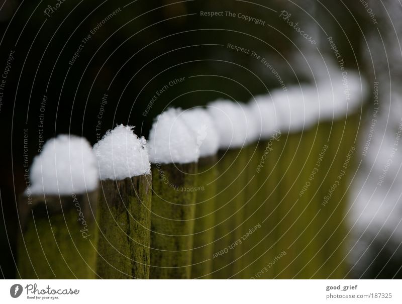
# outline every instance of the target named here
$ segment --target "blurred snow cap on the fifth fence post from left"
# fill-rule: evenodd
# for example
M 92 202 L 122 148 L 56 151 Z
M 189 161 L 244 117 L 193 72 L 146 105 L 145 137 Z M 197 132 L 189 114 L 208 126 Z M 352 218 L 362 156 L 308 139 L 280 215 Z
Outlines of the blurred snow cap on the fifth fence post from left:
M 218 99 L 208 104 L 219 134 L 219 148 L 240 148 L 247 144 L 247 119 L 242 107 L 230 100 Z

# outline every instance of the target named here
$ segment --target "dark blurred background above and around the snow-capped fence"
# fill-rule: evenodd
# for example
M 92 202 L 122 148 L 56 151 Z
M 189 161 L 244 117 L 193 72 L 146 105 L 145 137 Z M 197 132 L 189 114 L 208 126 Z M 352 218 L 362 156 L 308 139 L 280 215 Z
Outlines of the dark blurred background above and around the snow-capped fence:
M 401 278 L 402 148 L 393 150 L 402 118 L 400 16 L 394 0 L 0 0 L 1 276 L 15 277 L 16 199 L 26 187 L 24 165 L 47 139 L 70 133 L 94 144 L 116 124 L 147 137 L 169 106 L 247 102 L 283 84 L 314 84 L 325 68 L 317 62 L 337 60 L 332 37 L 369 96 L 359 130 L 369 149 L 348 213 L 348 276 Z

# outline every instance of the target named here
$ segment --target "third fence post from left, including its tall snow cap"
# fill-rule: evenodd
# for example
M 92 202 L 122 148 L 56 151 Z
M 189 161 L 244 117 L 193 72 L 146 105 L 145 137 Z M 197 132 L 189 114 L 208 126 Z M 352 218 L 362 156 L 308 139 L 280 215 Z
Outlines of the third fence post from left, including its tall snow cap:
M 188 279 L 199 151 L 179 109 L 160 114 L 150 131 L 152 171 L 151 279 Z

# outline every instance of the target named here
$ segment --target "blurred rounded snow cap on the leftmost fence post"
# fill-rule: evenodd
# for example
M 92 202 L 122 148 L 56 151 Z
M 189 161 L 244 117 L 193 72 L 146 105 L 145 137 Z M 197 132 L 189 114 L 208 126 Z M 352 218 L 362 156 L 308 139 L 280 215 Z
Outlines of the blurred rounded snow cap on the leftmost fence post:
M 48 140 L 30 168 L 33 194 L 92 191 L 98 184 L 96 158 L 84 138 L 59 135 Z

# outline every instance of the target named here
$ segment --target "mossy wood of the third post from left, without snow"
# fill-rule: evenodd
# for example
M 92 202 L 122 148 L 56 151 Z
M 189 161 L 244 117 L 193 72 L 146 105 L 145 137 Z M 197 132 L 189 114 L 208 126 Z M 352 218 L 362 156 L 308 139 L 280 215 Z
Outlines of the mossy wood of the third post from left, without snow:
M 197 163 L 152 164 L 151 279 L 191 278 Z

